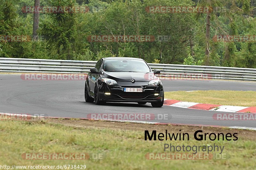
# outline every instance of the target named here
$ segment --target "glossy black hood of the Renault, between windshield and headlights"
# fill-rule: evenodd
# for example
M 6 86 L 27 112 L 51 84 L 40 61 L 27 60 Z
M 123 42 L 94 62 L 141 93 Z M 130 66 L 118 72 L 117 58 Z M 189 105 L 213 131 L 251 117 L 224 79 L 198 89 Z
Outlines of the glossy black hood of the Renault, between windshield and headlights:
M 135 73 L 135 72 L 103 72 L 103 77 L 113 79 L 115 81 L 150 81 L 153 72 L 150 73 Z

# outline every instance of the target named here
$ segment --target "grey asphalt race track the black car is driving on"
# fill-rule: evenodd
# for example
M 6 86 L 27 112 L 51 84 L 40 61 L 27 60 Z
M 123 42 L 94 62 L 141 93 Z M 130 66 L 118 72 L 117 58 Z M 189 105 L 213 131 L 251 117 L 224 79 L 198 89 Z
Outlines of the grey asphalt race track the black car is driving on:
M 165 91 L 177 90 L 253 90 L 256 83 L 213 80 L 164 80 Z M 256 127 L 255 121 L 217 121 L 217 111 L 183 109 L 171 106 L 153 108 L 150 103 L 107 103 L 95 105 L 84 101 L 84 81 L 22 80 L 17 74 L 0 74 L 0 112 L 45 114 L 53 117 L 86 118 L 89 113 L 162 113 L 162 123 Z

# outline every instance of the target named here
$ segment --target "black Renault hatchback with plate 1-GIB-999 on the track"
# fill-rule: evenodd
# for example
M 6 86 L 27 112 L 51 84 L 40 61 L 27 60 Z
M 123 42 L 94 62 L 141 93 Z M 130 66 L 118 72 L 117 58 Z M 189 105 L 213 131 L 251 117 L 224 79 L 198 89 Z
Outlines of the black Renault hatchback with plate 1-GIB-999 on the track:
M 102 58 L 86 77 L 85 101 L 151 103 L 153 107 L 162 107 L 164 88 L 155 76 L 159 73 L 160 70 L 153 72 L 146 61 L 139 58 Z

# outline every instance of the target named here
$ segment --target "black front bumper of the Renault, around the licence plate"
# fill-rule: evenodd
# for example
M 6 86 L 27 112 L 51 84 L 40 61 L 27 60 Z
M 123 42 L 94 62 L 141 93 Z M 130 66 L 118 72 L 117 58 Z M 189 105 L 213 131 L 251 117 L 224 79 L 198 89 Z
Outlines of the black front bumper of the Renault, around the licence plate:
M 163 86 L 148 86 L 148 82 L 117 82 L 119 86 L 99 84 L 99 99 L 105 102 L 156 102 L 163 99 Z M 142 88 L 143 92 L 124 92 L 124 88 Z M 106 95 L 105 93 L 110 93 Z M 157 96 L 155 94 L 158 94 Z

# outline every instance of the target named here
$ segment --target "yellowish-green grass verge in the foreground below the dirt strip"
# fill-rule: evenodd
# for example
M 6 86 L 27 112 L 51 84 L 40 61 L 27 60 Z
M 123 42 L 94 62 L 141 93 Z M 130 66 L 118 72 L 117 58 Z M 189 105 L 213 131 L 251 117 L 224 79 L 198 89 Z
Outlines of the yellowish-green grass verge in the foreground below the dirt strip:
M 166 127 L 166 126 L 164 126 Z M 1 121 L 0 165 L 86 164 L 86 169 L 254 169 L 256 143 L 237 141 L 145 141 L 144 131 L 76 128 L 45 122 Z M 172 145 L 224 145 L 227 160 L 148 160 L 148 152 Z M 103 153 L 101 160 L 24 160 L 27 152 Z

